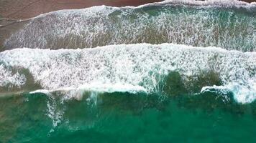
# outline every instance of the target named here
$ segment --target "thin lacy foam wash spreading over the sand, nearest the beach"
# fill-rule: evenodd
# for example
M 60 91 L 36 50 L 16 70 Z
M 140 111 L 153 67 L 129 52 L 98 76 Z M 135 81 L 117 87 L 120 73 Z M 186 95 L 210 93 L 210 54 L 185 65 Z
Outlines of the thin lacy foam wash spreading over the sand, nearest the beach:
M 186 44 L 256 51 L 256 4 L 164 1 L 138 7 L 54 11 L 29 21 L 6 49 L 76 49 L 109 44 Z

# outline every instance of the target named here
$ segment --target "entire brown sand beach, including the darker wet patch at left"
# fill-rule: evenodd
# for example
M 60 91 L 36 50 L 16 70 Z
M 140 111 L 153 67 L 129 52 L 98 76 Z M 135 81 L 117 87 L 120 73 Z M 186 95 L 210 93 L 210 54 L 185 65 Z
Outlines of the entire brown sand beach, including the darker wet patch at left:
M 30 18 L 45 14 L 51 11 L 62 9 L 84 9 L 91 6 L 141 6 L 143 4 L 150 4 L 160 2 L 163 0 L 0 0 L 0 51 L 6 50 L 4 42 L 12 34 L 24 28 L 24 25 Z M 178 0 L 173 0 L 178 1 Z M 195 2 L 191 0 L 192 2 Z M 237 0 L 230 0 L 231 4 L 239 2 Z M 255 0 L 245 0 L 247 3 L 254 2 Z M 189 0 L 186 2 L 190 2 Z M 206 1 L 196 1 L 195 4 L 201 4 Z M 215 4 L 221 3 L 221 0 L 209 0 Z M 229 0 L 226 0 L 226 3 Z M 242 4 L 247 4 L 241 1 Z M 20 19 L 20 20 L 19 20 Z

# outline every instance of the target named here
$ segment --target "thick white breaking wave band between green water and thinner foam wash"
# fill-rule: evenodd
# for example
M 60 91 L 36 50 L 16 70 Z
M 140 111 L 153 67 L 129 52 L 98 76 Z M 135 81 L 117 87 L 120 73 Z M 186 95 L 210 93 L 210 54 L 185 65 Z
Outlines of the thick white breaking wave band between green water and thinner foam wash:
M 238 102 L 245 103 L 256 97 L 255 63 L 255 52 L 177 44 L 13 49 L 0 53 L 0 67 L 4 69 L 0 70 L 0 86 L 6 90 L 12 90 L 12 85 L 22 89 L 32 82 L 47 90 L 86 87 L 93 91 L 118 85 L 124 91 L 170 95 L 224 86 L 234 92 Z

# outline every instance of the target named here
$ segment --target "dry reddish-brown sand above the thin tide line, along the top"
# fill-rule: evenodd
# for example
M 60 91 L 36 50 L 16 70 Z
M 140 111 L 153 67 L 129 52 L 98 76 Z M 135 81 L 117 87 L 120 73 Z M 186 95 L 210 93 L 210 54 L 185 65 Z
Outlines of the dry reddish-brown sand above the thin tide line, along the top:
M 29 19 L 40 14 L 61 9 L 83 9 L 91 6 L 140 6 L 163 0 L 0 0 L 0 19 Z M 255 0 L 244 0 L 251 3 Z

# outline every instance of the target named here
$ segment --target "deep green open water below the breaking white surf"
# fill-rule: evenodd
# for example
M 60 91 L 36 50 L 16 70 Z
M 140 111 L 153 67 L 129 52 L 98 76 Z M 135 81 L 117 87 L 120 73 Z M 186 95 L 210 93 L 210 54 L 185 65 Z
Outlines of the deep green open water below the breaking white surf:
M 89 95 L 88 95 L 89 96 Z M 256 103 L 216 94 L 98 94 L 93 101 L 45 94 L 1 97 L 1 142 L 255 142 Z M 47 115 L 61 114 L 56 127 Z M 54 102 L 54 103 L 53 103 Z

